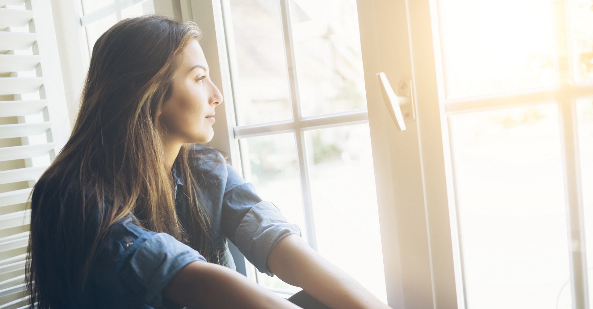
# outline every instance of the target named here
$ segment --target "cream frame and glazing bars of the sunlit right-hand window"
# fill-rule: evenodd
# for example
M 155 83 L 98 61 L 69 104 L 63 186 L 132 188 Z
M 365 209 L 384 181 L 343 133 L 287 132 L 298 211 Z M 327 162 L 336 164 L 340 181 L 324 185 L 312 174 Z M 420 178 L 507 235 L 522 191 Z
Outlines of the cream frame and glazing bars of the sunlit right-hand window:
M 394 131 L 394 125 L 385 116 L 385 108 L 369 103 L 371 132 L 387 132 L 371 134 L 374 156 L 377 154 L 375 166 L 385 166 L 384 172 L 375 170 L 378 197 L 384 198 L 380 202 L 382 226 L 390 221 L 400 226 L 381 230 L 382 237 L 391 237 L 387 243 L 384 239 L 383 246 L 389 304 L 394 308 L 466 307 L 447 117 L 556 101 L 562 131 L 566 205 L 570 213 L 567 220 L 571 247 L 567 250 L 573 308 L 587 308 L 574 101 L 593 95 L 593 85 L 571 82 L 568 56 L 557 59 L 561 75 L 557 87 L 447 99 L 441 74 L 437 1 L 359 0 L 358 4 L 361 33 L 370 34 L 361 38 L 366 40 L 363 48 L 375 47 L 374 51 L 368 51 L 374 57 L 368 53 L 364 56 L 366 82 L 373 82 L 374 74 L 381 71 L 387 73 L 392 83 L 410 78 L 415 81 L 418 121 L 409 126 L 412 129 L 409 133 Z M 557 1 L 555 5 L 558 54 L 567 55 L 566 1 Z M 380 100 L 378 89 L 367 91 L 367 96 L 369 102 Z M 401 168 L 404 164 L 407 169 Z M 384 201 L 387 203 L 383 204 Z M 406 236 L 402 236 L 402 231 Z

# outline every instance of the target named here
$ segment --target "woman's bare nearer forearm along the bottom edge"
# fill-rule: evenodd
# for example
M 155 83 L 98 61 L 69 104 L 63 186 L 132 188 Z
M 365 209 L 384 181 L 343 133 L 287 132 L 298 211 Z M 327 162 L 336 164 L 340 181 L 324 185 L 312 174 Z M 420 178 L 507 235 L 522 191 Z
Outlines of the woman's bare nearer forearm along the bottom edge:
M 300 309 L 224 266 L 192 262 L 162 290 L 167 300 L 188 308 Z

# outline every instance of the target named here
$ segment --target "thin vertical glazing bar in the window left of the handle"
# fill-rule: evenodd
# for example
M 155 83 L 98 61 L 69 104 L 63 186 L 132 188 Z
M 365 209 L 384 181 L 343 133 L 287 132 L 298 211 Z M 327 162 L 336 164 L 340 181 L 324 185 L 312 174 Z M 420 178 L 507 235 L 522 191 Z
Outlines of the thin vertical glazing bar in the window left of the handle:
M 294 41 L 292 40 L 292 25 L 289 0 L 280 0 L 280 14 L 282 15 L 282 34 L 284 38 L 284 50 L 286 53 L 286 64 L 288 67 L 288 81 L 291 93 L 292 118 L 295 123 L 295 139 L 297 140 L 297 155 L 299 166 L 299 179 L 301 181 L 301 194 L 303 211 L 305 217 L 305 230 L 307 231 L 307 243 L 314 250 L 317 250 L 317 238 L 315 237 L 315 223 L 313 218 L 313 201 L 311 200 L 311 184 L 309 181 L 309 168 L 307 162 L 307 149 L 305 149 L 305 133 L 301 128 L 301 104 L 299 102 L 297 85 L 297 62 L 295 60 Z

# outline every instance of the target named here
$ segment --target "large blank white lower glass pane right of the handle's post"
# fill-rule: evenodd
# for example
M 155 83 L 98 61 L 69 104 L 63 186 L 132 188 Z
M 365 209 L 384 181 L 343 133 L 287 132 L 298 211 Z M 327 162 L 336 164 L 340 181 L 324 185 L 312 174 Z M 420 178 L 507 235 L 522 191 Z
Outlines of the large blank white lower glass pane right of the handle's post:
M 556 104 L 449 120 L 467 308 L 572 308 Z

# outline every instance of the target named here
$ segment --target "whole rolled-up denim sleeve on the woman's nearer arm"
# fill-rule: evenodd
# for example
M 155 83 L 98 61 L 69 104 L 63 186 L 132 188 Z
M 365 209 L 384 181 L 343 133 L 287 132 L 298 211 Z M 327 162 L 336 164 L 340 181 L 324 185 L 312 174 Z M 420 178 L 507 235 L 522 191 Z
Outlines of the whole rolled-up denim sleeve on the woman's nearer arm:
M 183 308 L 164 300 L 162 289 L 187 264 L 205 261 L 204 257 L 173 236 L 146 231 L 130 219 L 113 230 L 95 263 L 91 276 L 94 284 L 155 309 Z

